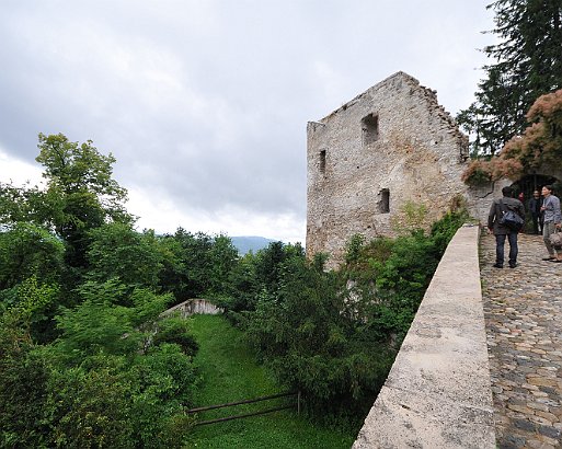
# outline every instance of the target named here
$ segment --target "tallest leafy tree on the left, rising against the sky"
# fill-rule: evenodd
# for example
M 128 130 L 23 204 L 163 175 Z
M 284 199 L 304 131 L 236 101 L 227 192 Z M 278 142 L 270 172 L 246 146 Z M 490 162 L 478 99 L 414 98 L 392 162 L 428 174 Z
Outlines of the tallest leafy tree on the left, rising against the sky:
M 39 134 L 37 162 L 45 168 L 46 187 L 0 185 L 0 225 L 27 221 L 66 243 L 66 260 L 85 266 L 88 231 L 106 222 L 131 223 L 124 203 L 127 191 L 112 177 L 112 154 L 101 154 L 92 141 L 71 142 L 62 134 Z

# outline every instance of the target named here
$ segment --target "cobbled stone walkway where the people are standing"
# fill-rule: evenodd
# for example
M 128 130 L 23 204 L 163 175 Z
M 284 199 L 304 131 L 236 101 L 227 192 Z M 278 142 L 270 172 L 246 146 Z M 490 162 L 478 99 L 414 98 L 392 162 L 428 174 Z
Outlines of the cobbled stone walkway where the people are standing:
M 480 251 L 497 447 L 562 448 L 562 264 L 540 235 L 519 235 L 514 269 L 492 267 L 493 235 Z

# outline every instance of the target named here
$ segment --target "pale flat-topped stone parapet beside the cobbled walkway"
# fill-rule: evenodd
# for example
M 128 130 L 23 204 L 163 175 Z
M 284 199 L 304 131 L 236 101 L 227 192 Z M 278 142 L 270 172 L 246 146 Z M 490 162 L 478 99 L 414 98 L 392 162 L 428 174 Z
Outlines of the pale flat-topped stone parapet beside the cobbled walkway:
M 495 448 L 478 244 L 449 243 L 355 449 Z

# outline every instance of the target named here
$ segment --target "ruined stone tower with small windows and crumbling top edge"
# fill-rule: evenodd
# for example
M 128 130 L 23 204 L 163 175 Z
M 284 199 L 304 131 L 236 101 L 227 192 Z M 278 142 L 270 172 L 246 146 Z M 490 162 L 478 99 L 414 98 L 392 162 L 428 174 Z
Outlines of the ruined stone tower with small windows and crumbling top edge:
M 437 103 L 436 92 L 398 72 L 307 126 L 307 254 L 342 261 L 353 234 L 393 235 L 391 218 L 406 202 L 434 221 L 463 197 L 468 138 Z M 488 192 L 486 194 L 490 194 Z M 489 207 L 486 202 L 485 207 Z

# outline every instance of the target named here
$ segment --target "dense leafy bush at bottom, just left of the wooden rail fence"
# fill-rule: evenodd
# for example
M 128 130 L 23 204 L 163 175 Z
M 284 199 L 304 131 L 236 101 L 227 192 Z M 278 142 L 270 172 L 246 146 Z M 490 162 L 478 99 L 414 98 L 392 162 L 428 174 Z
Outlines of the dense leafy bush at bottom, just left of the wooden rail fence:
M 193 425 L 196 373 L 176 345 L 55 366 L 45 412 L 57 447 L 179 448 Z

